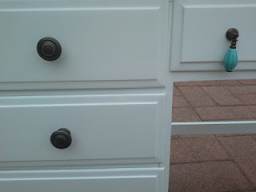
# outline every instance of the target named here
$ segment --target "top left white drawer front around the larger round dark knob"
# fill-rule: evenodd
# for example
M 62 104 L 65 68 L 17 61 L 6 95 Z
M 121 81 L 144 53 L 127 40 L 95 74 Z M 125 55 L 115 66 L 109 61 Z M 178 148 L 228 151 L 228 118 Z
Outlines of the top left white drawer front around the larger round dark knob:
M 154 86 L 162 86 L 165 56 L 159 47 L 166 31 L 161 29 L 161 1 L 154 2 L 0 10 L 0 82 L 154 80 Z M 62 46 L 55 61 L 38 55 L 38 41 L 45 37 Z

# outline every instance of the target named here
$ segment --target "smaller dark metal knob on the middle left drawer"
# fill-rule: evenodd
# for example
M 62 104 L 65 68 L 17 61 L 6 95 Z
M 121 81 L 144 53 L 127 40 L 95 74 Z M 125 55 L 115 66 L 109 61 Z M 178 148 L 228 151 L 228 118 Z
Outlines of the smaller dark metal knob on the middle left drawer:
M 72 142 L 70 130 L 61 128 L 50 136 L 50 142 L 58 149 L 66 149 Z

